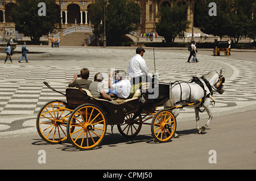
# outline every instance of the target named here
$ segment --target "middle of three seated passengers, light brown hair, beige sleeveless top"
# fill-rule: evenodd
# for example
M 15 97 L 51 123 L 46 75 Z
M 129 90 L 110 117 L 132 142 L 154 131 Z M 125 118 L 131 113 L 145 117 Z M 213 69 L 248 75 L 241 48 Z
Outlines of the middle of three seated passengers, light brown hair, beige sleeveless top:
M 112 98 L 105 93 L 104 86 L 102 84 L 104 77 L 101 73 L 97 73 L 94 75 L 94 82 L 90 83 L 89 91 L 92 94 L 93 98 L 103 98 L 107 100 L 112 100 Z

